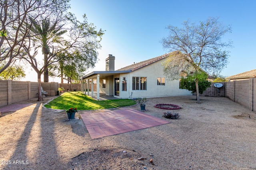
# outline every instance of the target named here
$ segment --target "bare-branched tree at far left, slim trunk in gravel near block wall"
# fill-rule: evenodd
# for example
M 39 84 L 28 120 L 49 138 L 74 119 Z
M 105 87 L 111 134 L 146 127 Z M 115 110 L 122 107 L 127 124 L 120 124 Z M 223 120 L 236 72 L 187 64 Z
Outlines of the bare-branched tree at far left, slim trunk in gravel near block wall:
M 42 20 L 61 15 L 68 9 L 69 0 L 4 0 L 0 1 L 0 69 L 5 70 L 17 58 L 30 54 L 32 20 Z M 36 61 L 35 56 L 30 60 Z M 33 66 L 32 66 L 33 67 Z M 33 67 L 35 69 L 35 66 Z M 37 70 L 40 73 L 43 69 Z M 41 74 L 40 74 L 41 76 Z M 38 96 L 42 96 L 41 79 L 38 76 Z M 39 97 L 38 97 L 39 98 Z M 38 99 L 42 100 L 42 98 Z

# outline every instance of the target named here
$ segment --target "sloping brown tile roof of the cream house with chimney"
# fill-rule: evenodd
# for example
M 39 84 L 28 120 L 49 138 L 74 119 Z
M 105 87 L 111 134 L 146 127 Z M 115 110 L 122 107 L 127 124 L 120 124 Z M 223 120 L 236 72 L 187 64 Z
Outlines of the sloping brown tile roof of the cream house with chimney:
M 178 51 L 174 51 L 172 53 L 164 54 L 164 55 L 152 58 L 152 59 L 141 61 L 139 63 L 135 63 L 135 64 L 132 64 L 132 65 L 126 66 L 124 68 L 120 68 L 120 69 L 118 69 L 118 71 L 121 71 L 121 70 L 131 70 L 131 71 L 134 71 L 134 70 L 137 70 L 137 69 L 142 68 L 144 66 L 147 66 L 149 64 L 155 63 L 156 61 L 160 61 L 162 59 L 165 59 L 166 57 L 168 57 L 170 54 L 173 54 L 173 53 L 178 53 Z

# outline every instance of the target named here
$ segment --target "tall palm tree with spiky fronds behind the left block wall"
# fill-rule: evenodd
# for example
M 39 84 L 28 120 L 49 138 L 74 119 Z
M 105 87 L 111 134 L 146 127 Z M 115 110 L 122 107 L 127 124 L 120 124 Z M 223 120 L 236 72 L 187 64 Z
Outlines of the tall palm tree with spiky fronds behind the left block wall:
M 42 25 L 34 20 L 32 23 L 31 31 L 34 33 L 33 40 L 38 43 L 38 47 L 36 48 L 42 48 L 42 54 L 44 55 L 44 66 L 46 66 L 46 69 L 44 70 L 44 82 L 49 82 L 48 59 L 49 56 L 54 55 L 53 44 L 64 43 L 61 36 L 66 33 L 66 30 L 62 29 L 63 25 L 58 26 L 59 21 L 54 21 L 52 25 L 49 19 L 42 20 Z M 52 51 L 50 48 L 52 48 Z

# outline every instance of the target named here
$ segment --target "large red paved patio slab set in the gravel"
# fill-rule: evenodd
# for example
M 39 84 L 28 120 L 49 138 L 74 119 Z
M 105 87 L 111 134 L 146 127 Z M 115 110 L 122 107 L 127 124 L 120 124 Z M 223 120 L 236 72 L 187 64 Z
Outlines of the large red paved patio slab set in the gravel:
M 170 123 L 134 109 L 80 111 L 92 139 Z

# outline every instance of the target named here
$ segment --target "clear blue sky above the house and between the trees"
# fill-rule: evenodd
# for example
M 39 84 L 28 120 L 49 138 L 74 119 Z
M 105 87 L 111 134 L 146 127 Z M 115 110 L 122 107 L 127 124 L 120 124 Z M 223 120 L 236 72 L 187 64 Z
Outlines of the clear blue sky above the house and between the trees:
M 231 76 L 256 69 L 256 0 L 70 0 L 70 12 L 105 31 L 98 63 L 93 70 L 105 70 L 108 54 L 116 57 L 115 69 L 168 53 L 160 40 L 168 35 L 167 25 L 205 21 L 220 17 L 231 25 L 232 33 L 223 41 L 233 41 L 227 68 Z

